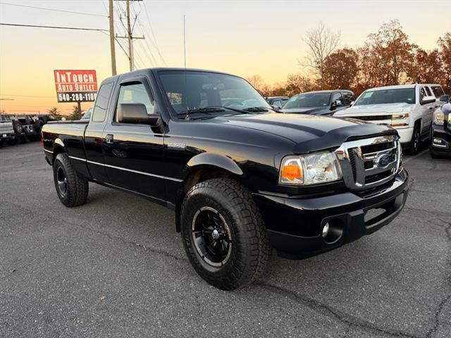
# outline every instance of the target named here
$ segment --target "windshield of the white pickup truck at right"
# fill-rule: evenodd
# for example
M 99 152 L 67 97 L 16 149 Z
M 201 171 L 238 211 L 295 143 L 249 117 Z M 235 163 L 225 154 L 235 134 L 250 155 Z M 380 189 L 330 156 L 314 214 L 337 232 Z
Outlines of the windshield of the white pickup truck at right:
M 415 103 L 415 89 L 385 89 L 373 90 L 371 92 L 364 92 L 359 99 L 357 99 L 354 106 L 363 106 L 366 104 L 414 104 Z

